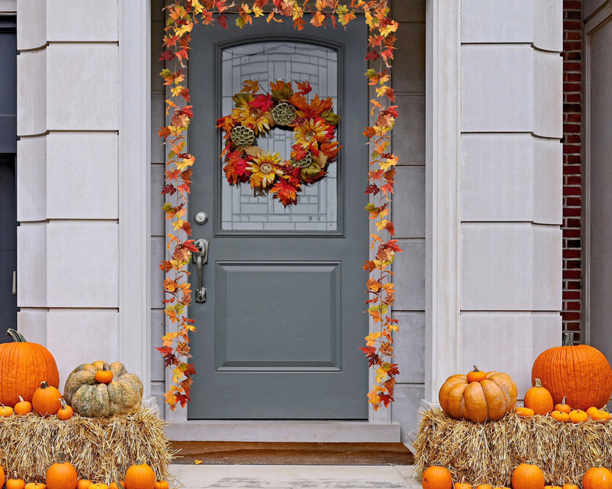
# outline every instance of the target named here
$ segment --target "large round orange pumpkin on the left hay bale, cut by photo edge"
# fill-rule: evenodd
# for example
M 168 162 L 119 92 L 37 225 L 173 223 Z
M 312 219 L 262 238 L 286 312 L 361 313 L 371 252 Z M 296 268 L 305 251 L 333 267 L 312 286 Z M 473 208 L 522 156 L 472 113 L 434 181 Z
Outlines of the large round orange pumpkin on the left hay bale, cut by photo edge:
M 47 348 L 26 341 L 15 329 L 7 333 L 13 341 L 0 344 L 0 403 L 13 408 L 19 395 L 31 402 L 34 391 L 44 380 L 58 388 L 59 373 Z

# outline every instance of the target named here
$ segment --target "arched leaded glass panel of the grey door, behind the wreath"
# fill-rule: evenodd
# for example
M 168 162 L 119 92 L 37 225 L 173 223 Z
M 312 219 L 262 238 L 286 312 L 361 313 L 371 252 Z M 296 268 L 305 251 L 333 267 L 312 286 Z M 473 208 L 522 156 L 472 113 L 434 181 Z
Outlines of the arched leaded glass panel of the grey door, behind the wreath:
M 266 92 L 270 91 L 271 81 L 308 80 L 313 89 L 310 95 L 332 97 L 335 112 L 338 112 L 338 53 L 335 50 L 289 41 L 258 42 L 224 49 L 222 63 L 222 114 L 232 111 L 231 97 L 248 79 L 258 80 Z M 279 152 L 288 160 L 292 134 L 272 128 L 267 138 L 259 135 L 256 145 Z M 254 197 L 248 183 L 231 186 L 222 173 L 222 229 L 338 230 L 338 164 L 340 161 L 330 163 L 329 173 L 319 182 L 302 185 L 297 205 L 286 208 L 277 199 L 272 199 L 271 194 Z

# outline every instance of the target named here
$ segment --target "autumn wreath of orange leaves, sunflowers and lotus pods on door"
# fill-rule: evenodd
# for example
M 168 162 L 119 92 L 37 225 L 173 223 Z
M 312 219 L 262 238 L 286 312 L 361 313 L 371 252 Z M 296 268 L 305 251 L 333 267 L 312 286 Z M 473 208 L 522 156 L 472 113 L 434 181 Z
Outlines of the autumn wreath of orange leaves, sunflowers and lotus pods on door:
M 230 185 L 249 182 L 255 195 L 272 193 L 285 207 L 297 204 L 302 185 L 318 182 L 327 174 L 327 165 L 336 161 L 341 145 L 332 141 L 340 116 L 332 109 L 331 98 L 315 95 L 308 81 L 271 81 L 271 94 L 258 94 L 259 83 L 247 80 L 232 97 L 236 104 L 229 116 L 217 120 L 225 132 L 221 153 L 223 171 Z M 294 144 L 289 160 L 280 153 L 264 151 L 255 145 L 272 127 L 293 131 Z

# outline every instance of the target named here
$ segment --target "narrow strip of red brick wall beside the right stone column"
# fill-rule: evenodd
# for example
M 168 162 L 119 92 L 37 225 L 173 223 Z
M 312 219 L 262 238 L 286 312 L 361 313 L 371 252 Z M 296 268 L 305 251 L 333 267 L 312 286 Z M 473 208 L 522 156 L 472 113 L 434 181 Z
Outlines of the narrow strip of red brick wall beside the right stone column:
M 563 331 L 582 314 L 582 2 L 563 2 Z

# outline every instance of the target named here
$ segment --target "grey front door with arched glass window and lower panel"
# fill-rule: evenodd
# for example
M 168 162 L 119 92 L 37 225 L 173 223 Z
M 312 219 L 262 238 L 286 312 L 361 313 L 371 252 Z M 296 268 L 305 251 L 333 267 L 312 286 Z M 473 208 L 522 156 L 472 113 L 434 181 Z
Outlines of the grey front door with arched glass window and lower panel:
M 368 331 L 367 28 L 363 19 L 346 31 L 306 20 L 303 31 L 263 18 L 239 29 L 230 17 L 227 30 L 192 32 L 189 215 L 193 238 L 206 238 L 210 248 L 207 300 L 189 311 L 198 327 L 190 419 L 367 418 L 367 361 L 359 350 Z M 231 96 L 247 79 L 262 87 L 308 80 L 311 95 L 333 97 L 342 117 L 338 160 L 298 205 L 285 208 L 271 195 L 254 197 L 248 183 L 225 181 L 215 121 L 230 114 Z M 288 158 L 291 133 L 274 129 L 256 144 Z M 206 224 L 195 221 L 198 211 L 209 215 Z

